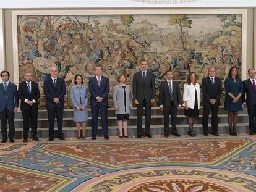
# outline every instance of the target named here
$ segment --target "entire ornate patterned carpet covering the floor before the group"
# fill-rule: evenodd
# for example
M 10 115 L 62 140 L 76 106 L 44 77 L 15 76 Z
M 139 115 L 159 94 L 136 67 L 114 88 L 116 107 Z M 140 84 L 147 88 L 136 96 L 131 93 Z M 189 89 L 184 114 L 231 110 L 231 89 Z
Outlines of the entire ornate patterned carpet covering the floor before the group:
M 0 191 L 256 191 L 256 136 L 5 143 Z

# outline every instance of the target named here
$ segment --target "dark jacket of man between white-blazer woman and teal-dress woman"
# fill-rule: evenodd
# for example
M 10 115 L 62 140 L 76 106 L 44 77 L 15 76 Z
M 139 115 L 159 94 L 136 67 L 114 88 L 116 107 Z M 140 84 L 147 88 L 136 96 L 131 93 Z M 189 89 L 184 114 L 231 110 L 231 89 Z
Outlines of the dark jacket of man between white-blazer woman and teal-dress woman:
M 214 78 L 214 86 L 211 84 L 210 77 L 202 79 L 202 93 L 203 93 L 203 105 L 211 105 L 210 100 L 216 99 L 216 104 L 220 106 L 220 98 L 222 93 L 221 79 Z

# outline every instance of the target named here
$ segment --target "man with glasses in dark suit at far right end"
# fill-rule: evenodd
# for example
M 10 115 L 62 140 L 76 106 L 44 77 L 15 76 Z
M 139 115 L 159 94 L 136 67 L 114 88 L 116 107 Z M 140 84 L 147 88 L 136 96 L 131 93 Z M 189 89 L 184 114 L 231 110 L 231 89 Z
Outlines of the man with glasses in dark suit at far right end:
M 256 79 L 255 69 L 248 70 L 249 79 L 244 80 L 244 94 L 242 94 L 242 102 L 247 107 L 249 115 L 249 135 L 256 134 Z

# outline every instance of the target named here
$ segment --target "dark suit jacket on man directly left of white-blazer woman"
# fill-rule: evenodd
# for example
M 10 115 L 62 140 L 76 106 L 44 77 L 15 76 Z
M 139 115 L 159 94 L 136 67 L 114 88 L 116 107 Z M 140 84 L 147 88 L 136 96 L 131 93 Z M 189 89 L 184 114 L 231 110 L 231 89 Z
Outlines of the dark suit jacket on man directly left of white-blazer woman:
M 181 92 L 179 91 L 179 84 L 176 81 L 172 83 L 173 88 L 173 103 L 174 106 L 177 107 L 181 104 Z M 160 90 L 159 90 L 159 105 L 163 105 L 163 107 L 171 107 L 171 94 L 169 93 L 169 85 L 167 80 L 161 82 Z

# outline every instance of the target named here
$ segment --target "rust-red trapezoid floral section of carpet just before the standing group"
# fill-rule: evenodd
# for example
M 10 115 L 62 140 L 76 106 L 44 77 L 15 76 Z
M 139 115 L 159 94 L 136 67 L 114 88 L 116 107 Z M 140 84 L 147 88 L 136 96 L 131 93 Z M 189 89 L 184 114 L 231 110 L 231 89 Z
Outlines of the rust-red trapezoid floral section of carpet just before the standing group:
M 216 164 L 248 144 L 244 139 L 43 144 L 40 149 L 111 168 L 142 164 Z

